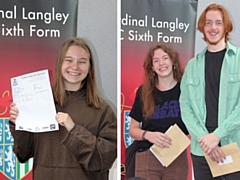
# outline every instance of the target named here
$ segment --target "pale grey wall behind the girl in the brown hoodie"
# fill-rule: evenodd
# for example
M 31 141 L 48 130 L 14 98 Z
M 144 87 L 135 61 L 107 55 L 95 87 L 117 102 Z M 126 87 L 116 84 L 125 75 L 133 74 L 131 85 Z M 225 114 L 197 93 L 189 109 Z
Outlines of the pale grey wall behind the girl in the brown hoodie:
M 91 46 L 100 93 L 117 114 L 117 1 L 78 0 L 78 3 L 77 36 Z M 120 177 L 117 161 L 110 170 L 110 180 Z

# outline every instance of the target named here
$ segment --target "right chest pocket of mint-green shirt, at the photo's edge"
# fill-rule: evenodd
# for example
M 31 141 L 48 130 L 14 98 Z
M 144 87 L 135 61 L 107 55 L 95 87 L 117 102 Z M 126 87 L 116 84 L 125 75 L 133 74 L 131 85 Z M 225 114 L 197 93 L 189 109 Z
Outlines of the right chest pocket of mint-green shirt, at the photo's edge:
M 236 100 L 237 98 L 239 98 L 239 90 L 240 90 L 240 74 L 229 74 L 227 98 Z

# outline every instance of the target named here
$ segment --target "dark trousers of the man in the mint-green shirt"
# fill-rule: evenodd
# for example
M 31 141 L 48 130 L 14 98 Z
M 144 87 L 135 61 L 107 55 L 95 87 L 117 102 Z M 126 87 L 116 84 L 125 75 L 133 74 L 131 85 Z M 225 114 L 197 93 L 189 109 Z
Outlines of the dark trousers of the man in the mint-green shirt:
M 193 154 L 191 156 L 195 180 L 240 180 L 240 172 L 213 178 L 205 157 Z

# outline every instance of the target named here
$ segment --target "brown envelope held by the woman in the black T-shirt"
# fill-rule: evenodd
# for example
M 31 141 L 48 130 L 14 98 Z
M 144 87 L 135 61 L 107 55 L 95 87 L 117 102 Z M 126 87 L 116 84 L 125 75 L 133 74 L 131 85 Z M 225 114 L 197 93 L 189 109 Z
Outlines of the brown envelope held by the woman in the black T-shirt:
M 172 139 L 172 145 L 169 148 L 161 148 L 154 144 L 150 151 L 163 166 L 168 167 L 189 146 L 190 140 L 177 124 L 171 126 L 165 134 Z

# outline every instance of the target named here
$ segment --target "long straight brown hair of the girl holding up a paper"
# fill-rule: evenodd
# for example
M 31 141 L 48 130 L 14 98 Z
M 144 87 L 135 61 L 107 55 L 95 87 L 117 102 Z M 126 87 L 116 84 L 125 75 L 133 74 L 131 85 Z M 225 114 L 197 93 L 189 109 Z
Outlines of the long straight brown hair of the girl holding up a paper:
M 97 90 L 94 58 L 89 45 L 82 38 L 68 39 L 61 45 L 58 51 L 58 55 L 55 63 L 55 72 L 54 72 L 55 74 L 54 74 L 54 79 L 52 83 L 54 99 L 61 106 L 65 104 L 66 93 L 65 93 L 64 79 L 61 73 L 61 68 L 62 68 L 63 60 L 67 53 L 68 48 L 73 45 L 83 48 L 89 54 L 90 69 L 87 77 L 82 82 L 81 88 L 86 88 L 88 105 L 94 108 L 100 108 L 100 96 Z

